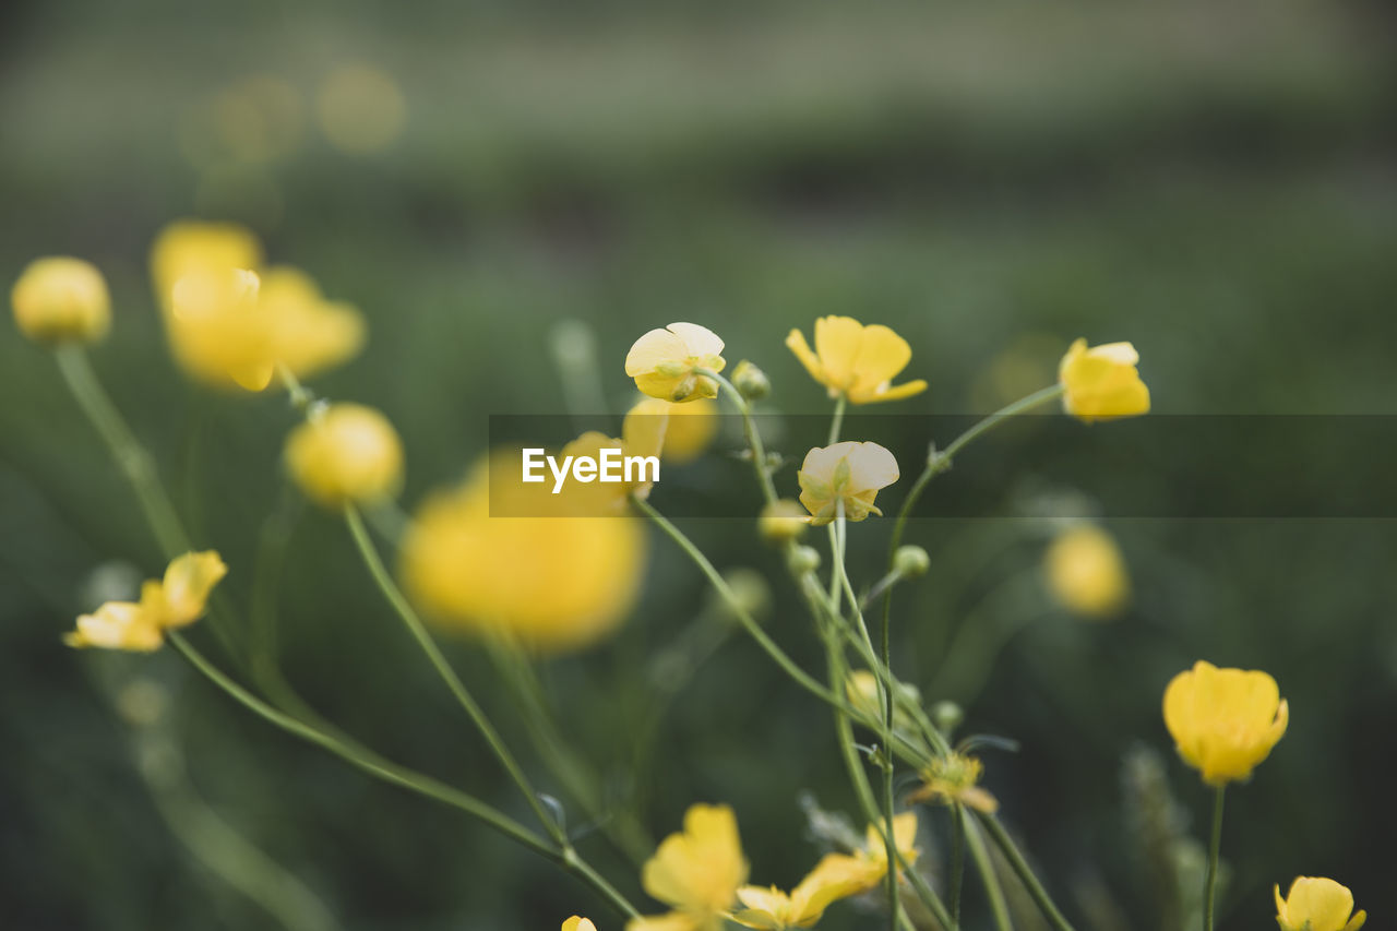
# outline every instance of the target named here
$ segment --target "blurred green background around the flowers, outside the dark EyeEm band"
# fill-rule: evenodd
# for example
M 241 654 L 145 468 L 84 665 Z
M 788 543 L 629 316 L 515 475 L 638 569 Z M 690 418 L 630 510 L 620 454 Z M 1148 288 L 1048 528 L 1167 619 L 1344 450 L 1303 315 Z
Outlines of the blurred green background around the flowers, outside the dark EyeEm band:
M 145 260 L 177 217 L 246 222 L 272 259 L 363 309 L 366 352 L 316 389 L 397 424 L 408 507 L 483 452 L 489 414 L 567 410 L 549 355 L 563 320 L 595 334 L 616 411 L 633 397 L 626 349 L 671 320 L 760 363 L 770 410 L 821 411 L 782 338 L 841 313 L 912 344 L 907 376 L 930 389 L 900 414 L 992 410 L 1051 380 L 1077 335 L 1132 340 L 1160 412 L 1393 414 L 1393 27 L 1382 3 L 1292 0 L 6 4 L 0 280 L 41 254 L 106 273 L 116 320 L 95 365 L 197 538 L 233 566 L 236 607 L 268 514 L 286 513 L 278 457 L 295 418 L 274 396 L 190 386 L 169 361 Z M 345 67 L 391 84 L 345 91 Z M 3 330 L 0 927 L 277 927 L 190 853 L 236 850 L 226 825 L 299 878 L 303 927 L 552 928 L 578 910 L 620 927 L 546 863 L 253 720 L 170 651 L 63 647 L 98 566 L 110 584 L 124 577 L 113 561 L 141 576 L 161 561 L 52 361 Z M 1277 454 L 1303 471 L 1326 452 L 1295 436 Z M 1031 486 L 1034 463 L 1021 471 Z M 901 493 L 884 492 L 894 506 Z M 370 745 L 527 818 L 342 527 L 296 507 L 291 521 L 288 678 Z M 773 580 L 770 629 L 819 668 L 750 524 L 686 527 L 719 566 Z M 1299 874 L 1348 883 L 1369 927 L 1391 927 L 1391 526 L 1115 521 L 1136 597 L 1105 625 L 1049 602 L 1049 530 L 916 523 L 909 541 L 933 570 L 898 593 L 895 665 L 929 699 L 965 700 L 963 732 L 1018 741 L 986 752 L 986 783 L 1078 927 L 1168 920 L 1151 858 L 1161 822 L 1147 816 L 1158 784 L 1148 758 L 1126 759 L 1160 753 L 1176 829 L 1200 836 L 1207 791 L 1160 717 L 1165 682 L 1199 657 L 1270 671 L 1292 709 L 1271 760 L 1228 801 L 1220 928 L 1270 927 L 1271 883 Z M 854 533 L 858 580 L 876 577 L 886 533 L 876 520 Z M 629 773 L 654 660 L 707 611 L 698 573 L 651 542 L 630 622 L 542 663 L 543 686 L 613 794 L 643 781 L 657 837 L 692 801 L 731 802 L 754 878 L 793 883 L 817 853 L 799 793 L 838 811 L 854 800 L 828 714 L 749 640 L 696 670 L 654 766 Z M 1004 646 L 982 688 L 967 667 L 947 695 L 935 674 L 964 625 Z M 481 650 L 448 646 L 527 748 Z M 158 726 L 113 706 L 115 693 L 127 717 L 149 705 L 130 692 L 137 678 L 168 691 Z M 944 815 L 923 822 L 930 858 Z M 583 846 L 645 902 L 599 835 Z M 967 928 L 988 927 L 970 888 Z M 840 906 L 821 927 L 875 920 Z M 1018 927 L 1039 927 L 1031 909 Z

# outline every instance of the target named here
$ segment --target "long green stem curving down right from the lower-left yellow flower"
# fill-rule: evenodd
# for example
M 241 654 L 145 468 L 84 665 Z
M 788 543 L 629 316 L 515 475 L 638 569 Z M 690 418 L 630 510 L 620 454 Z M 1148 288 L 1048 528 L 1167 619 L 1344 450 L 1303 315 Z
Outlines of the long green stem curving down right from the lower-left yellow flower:
M 439 801 L 451 808 L 457 808 L 471 815 L 476 821 L 483 822 L 486 826 L 493 828 L 500 835 L 514 840 L 515 843 L 528 847 L 541 857 L 556 863 L 563 868 L 577 874 L 587 885 L 592 886 L 602 897 L 605 897 L 617 911 L 626 917 L 636 917 L 638 911 L 624 896 L 616 892 L 610 883 L 598 876 L 595 871 L 591 869 L 585 863 L 583 863 L 570 846 L 555 847 L 545 837 L 534 833 L 524 825 L 518 823 L 513 818 L 496 811 L 490 805 L 482 802 L 475 795 L 469 795 L 457 788 L 453 788 L 444 783 L 440 783 L 430 776 L 418 773 L 405 766 L 398 766 L 397 763 L 387 760 L 372 751 L 363 751 L 358 748 L 341 744 L 334 737 L 324 734 L 293 717 L 278 712 L 271 705 L 267 705 L 256 695 L 237 685 L 233 679 L 225 675 L 218 667 L 210 663 L 203 653 L 194 649 L 189 640 L 179 630 L 166 632 L 166 639 L 175 646 L 175 649 L 198 670 L 205 678 L 208 678 L 214 685 L 226 692 L 243 707 L 250 710 L 257 717 L 279 727 L 281 730 L 299 737 L 300 739 L 314 744 L 321 749 L 330 751 L 335 756 L 339 756 L 356 769 L 369 773 L 370 776 L 380 779 L 393 786 L 407 788 L 408 791 L 418 793 Z

